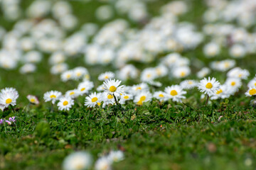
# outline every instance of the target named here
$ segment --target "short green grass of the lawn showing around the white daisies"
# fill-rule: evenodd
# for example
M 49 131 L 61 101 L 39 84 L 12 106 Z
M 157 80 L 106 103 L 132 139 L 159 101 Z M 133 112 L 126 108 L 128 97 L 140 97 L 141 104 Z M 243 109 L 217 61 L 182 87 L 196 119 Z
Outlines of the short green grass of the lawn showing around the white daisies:
M 22 6 L 25 8 L 30 2 L 22 1 Z M 154 16 L 158 15 L 159 7 L 165 2 L 150 3 L 149 11 Z M 194 0 L 190 3 L 194 10 L 182 16 L 181 20 L 201 26 L 203 2 Z M 72 1 L 71 4 L 75 15 L 84 23 L 95 21 L 93 9 L 102 3 L 92 0 L 90 4 L 82 1 Z M 4 21 L 2 16 L 0 23 L 9 29 L 13 25 Z M 224 51 L 223 57 L 227 54 Z M 182 55 L 191 61 L 195 58 L 203 60 L 201 47 Z M 61 169 L 63 159 L 71 152 L 86 150 L 96 160 L 111 149 L 119 148 L 125 150 L 125 159 L 114 164 L 114 169 L 255 169 L 255 108 L 249 105 L 250 98 L 244 95 L 245 86 L 228 100 L 215 101 L 209 106 L 204 106 L 205 101 L 200 99 L 200 93 L 195 89 L 188 91 L 188 98 L 184 101 L 186 105 L 153 101 L 144 106 L 129 103 L 122 110 L 115 106 L 102 110 L 76 103 L 69 112 L 59 112 L 55 107 L 51 113 L 50 104 L 43 102 L 43 94 L 50 90 L 65 92 L 75 89 L 78 83 L 63 83 L 59 76 L 51 75 L 48 55 L 45 57 L 38 65 L 38 72 L 33 74 L 24 76 L 18 70 L 0 70 L 0 88 L 13 86 L 20 94 L 16 113 L 11 110 L 0 112 L 0 118 L 15 115 L 17 120 L 13 126 L 0 125 L 0 169 Z M 252 56 L 238 62 L 240 67 L 255 72 Z M 68 60 L 68 64 L 71 69 L 87 67 L 95 86 L 100 85 L 96 77 L 98 74 L 112 70 L 111 66 L 87 66 L 82 57 Z M 149 67 L 134 64 L 139 68 Z M 198 68 L 191 64 L 196 72 Z M 211 76 L 221 83 L 225 81 L 223 73 L 213 72 Z M 195 76 L 192 74 L 189 78 Z M 179 83 L 167 77 L 159 81 L 164 84 L 160 89 Z M 28 106 L 28 94 L 39 96 L 41 104 Z M 83 103 L 84 97 L 78 101 Z M 220 115 L 223 118 L 218 120 Z M 249 164 L 250 160 L 252 164 Z

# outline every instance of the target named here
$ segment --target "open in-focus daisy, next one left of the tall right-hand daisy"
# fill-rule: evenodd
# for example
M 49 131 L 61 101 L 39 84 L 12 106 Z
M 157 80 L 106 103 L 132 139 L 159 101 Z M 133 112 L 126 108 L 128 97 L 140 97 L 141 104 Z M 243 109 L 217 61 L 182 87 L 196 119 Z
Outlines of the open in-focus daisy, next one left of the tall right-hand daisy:
M 166 93 L 166 97 L 171 98 L 173 101 L 181 102 L 181 98 L 186 98 L 183 96 L 186 94 L 186 91 L 183 91 L 181 86 L 178 85 L 167 86 L 164 92 Z

